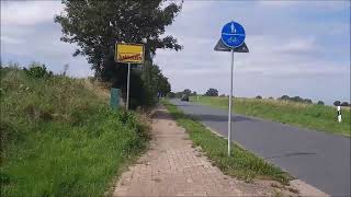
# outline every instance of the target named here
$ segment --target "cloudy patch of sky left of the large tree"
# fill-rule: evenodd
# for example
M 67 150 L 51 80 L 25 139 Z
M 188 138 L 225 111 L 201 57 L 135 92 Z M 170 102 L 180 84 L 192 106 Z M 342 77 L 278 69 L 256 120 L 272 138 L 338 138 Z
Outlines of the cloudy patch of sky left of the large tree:
M 63 11 L 60 1 L 1 1 L 1 60 L 44 62 L 59 73 L 69 65 L 72 77 L 92 76 L 84 57 L 72 58 L 76 45 L 63 43 L 54 15 Z

